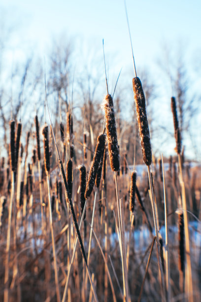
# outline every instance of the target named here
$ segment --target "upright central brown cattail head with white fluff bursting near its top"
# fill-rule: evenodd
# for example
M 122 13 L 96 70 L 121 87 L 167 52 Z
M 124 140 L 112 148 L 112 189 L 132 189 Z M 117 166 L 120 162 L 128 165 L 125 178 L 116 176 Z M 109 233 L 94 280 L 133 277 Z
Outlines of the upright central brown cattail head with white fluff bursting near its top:
M 113 100 L 110 94 L 107 94 L 105 96 L 102 105 L 105 111 L 105 127 L 107 131 L 110 166 L 112 171 L 119 171 L 119 148 L 117 142 L 117 130 L 114 117 Z

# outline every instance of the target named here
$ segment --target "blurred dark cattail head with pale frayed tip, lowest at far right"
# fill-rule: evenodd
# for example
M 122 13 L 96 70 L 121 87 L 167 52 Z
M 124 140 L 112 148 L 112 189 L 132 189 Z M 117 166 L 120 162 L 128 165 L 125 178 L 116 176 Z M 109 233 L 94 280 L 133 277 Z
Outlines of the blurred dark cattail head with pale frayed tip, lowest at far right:
M 184 247 L 184 214 L 178 211 L 178 239 L 179 239 L 179 270 L 184 272 L 185 269 L 185 247 Z

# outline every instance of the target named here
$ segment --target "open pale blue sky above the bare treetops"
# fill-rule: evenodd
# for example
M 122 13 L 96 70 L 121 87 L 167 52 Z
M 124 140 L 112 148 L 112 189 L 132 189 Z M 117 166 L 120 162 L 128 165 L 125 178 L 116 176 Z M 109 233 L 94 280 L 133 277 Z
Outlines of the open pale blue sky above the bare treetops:
M 16 26 L 13 47 L 29 46 L 45 55 L 52 37 L 66 33 L 132 64 L 123 0 L 3 0 L 6 22 Z M 163 42 L 182 39 L 190 55 L 201 49 L 200 0 L 127 0 L 136 66 L 149 64 Z M 16 43 L 16 44 L 15 44 Z

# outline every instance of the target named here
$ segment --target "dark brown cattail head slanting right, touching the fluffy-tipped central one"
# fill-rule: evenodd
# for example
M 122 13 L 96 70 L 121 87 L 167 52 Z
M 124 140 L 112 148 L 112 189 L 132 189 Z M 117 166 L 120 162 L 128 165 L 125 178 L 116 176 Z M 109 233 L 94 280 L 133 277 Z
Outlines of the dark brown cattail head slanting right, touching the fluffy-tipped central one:
M 96 150 L 95 150 L 95 153 L 94 153 L 94 158 L 93 158 L 93 161 L 92 161 L 92 164 L 91 164 L 88 182 L 87 182 L 87 185 L 86 185 L 86 190 L 85 190 L 85 198 L 86 199 L 91 195 L 92 190 L 94 188 L 94 183 L 95 183 L 97 171 L 98 171 L 99 164 L 100 164 L 101 154 L 104 150 L 104 145 L 105 145 L 105 135 L 100 134 L 98 136 L 98 139 L 97 139 L 97 146 L 96 146 Z

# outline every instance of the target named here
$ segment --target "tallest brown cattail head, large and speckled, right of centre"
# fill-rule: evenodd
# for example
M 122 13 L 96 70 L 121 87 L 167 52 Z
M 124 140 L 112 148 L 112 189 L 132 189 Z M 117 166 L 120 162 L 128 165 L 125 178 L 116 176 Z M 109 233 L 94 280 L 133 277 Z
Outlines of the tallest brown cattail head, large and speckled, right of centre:
M 150 166 L 152 161 L 152 151 L 149 137 L 149 125 L 146 115 L 145 96 L 141 81 L 138 77 L 133 78 L 133 90 L 143 160 L 147 166 Z

